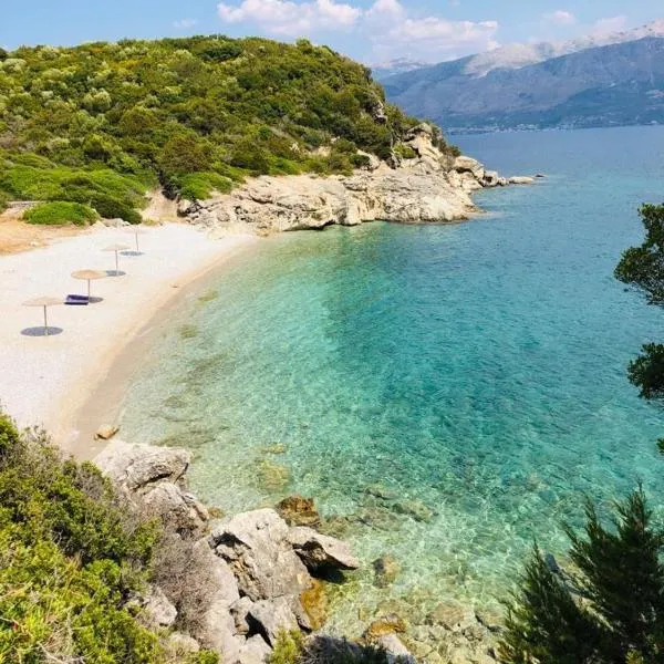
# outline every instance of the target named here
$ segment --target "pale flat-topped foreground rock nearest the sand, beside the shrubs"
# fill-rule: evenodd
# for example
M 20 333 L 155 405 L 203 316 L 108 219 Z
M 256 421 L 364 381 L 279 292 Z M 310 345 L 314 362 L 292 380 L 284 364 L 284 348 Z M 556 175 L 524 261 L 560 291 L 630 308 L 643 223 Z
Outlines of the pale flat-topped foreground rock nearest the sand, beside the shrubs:
M 186 449 L 132 445 L 113 440 L 94 459 L 95 465 L 120 487 L 136 491 L 146 485 L 178 481 L 189 466 Z

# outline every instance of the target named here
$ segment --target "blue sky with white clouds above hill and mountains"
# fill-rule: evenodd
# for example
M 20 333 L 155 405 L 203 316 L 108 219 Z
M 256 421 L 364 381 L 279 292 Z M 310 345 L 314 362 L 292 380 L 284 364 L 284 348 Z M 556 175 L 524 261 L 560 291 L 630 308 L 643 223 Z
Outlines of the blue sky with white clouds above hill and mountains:
M 367 64 L 440 62 L 660 18 L 662 0 L 0 0 L 0 45 L 260 34 L 307 37 Z

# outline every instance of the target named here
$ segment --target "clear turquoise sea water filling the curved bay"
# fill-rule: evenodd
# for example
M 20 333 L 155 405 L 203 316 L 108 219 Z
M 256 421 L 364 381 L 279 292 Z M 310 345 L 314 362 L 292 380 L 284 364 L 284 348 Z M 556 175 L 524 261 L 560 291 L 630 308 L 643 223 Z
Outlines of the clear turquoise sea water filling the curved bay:
M 335 517 L 366 563 L 335 598 L 346 631 L 387 601 L 494 605 L 533 538 L 563 554 L 584 492 L 664 496 L 664 414 L 625 377 L 663 313 L 612 277 L 637 206 L 664 198 L 664 128 L 455 139 L 549 177 L 483 193 L 469 224 L 266 241 L 180 312 L 127 400 L 125 435 L 190 446 L 210 502 L 300 492 Z M 385 552 L 402 572 L 381 590 Z

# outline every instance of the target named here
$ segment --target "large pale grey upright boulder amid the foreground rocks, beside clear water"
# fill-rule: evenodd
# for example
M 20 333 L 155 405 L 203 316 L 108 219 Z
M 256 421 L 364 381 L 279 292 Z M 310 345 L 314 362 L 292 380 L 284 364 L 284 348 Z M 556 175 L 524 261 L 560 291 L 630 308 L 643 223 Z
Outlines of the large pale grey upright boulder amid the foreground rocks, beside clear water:
M 299 595 L 310 585 L 307 568 L 289 540 L 289 527 L 272 509 L 217 522 L 209 543 L 228 562 L 242 594 L 253 601 Z

